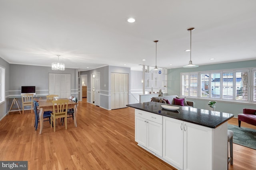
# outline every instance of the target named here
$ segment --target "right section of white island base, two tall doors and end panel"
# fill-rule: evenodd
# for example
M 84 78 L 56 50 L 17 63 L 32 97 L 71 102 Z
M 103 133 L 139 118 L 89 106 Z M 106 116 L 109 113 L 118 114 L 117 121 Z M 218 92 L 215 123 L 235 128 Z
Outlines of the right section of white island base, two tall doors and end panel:
M 212 129 L 163 117 L 163 158 L 180 170 L 227 169 L 227 122 Z

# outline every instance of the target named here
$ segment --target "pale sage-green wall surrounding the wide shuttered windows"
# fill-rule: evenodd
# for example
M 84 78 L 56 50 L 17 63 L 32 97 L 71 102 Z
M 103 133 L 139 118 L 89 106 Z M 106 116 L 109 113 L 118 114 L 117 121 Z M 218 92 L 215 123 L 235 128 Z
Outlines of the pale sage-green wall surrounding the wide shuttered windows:
M 201 71 L 226 70 L 226 69 L 237 69 L 237 68 L 256 68 L 256 60 L 202 65 L 197 68 L 168 69 L 168 95 L 174 95 L 174 94 L 178 96 L 181 95 L 180 73 L 182 72 L 201 72 Z M 188 98 L 187 100 L 194 101 L 196 108 L 209 109 L 208 102 L 210 101 L 210 99 L 206 100 L 206 99 Z M 218 100 L 215 100 L 215 101 L 217 102 L 215 111 L 232 113 L 235 115 L 235 117 L 237 117 L 239 113 L 242 113 L 243 108 L 256 109 L 256 104 L 244 104 L 244 103 L 238 103 L 238 102 L 226 102 L 226 101 L 218 101 Z

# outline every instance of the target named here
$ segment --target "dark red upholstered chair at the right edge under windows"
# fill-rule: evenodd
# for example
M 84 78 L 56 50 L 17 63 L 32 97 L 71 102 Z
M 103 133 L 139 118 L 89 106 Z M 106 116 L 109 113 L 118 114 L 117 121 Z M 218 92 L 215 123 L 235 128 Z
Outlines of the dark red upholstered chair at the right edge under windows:
M 241 127 L 241 121 L 256 126 L 256 109 L 243 109 L 242 114 L 238 114 L 238 125 Z

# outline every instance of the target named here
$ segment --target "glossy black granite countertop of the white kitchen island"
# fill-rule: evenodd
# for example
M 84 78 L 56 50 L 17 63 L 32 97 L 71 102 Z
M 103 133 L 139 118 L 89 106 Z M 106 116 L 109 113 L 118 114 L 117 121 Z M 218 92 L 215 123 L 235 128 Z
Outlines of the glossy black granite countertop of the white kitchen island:
M 128 104 L 126 106 L 148 111 L 158 115 L 172 117 L 174 119 L 179 119 L 179 120 L 187 121 L 190 123 L 195 123 L 195 124 L 210 127 L 210 128 L 216 128 L 222 123 L 234 117 L 234 115 L 230 113 L 210 111 L 205 109 L 197 109 L 194 107 L 177 106 L 177 105 L 170 105 L 170 106 L 177 106 L 177 107 L 180 107 L 180 109 L 178 109 L 177 111 L 170 111 L 170 110 L 163 109 L 161 105 L 169 105 L 169 104 L 163 104 L 158 102 L 144 102 L 144 103 L 138 103 L 138 104 Z

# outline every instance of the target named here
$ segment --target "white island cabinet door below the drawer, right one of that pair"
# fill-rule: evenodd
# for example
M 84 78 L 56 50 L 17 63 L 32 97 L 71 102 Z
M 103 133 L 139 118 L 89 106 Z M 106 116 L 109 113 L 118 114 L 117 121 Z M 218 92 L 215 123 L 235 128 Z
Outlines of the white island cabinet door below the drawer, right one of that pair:
M 163 155 L 163 127 L 161 124 L 147 121 L 147 148 L 159 156 Z

